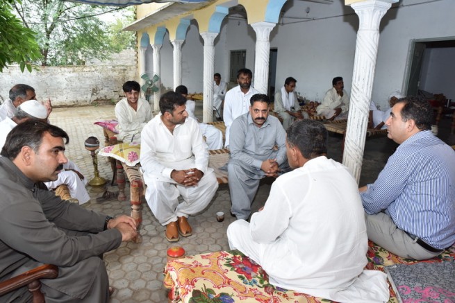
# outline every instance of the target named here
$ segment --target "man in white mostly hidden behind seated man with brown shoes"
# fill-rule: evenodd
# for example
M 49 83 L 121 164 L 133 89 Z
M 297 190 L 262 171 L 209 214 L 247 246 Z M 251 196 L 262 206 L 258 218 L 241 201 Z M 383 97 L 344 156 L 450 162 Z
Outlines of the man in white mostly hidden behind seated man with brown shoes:
M 186 88 L 185 85 L 179 85 L 175 88 L 175 92 L 185 97 L 186 112 L 188 112 L 188 116 L 199 122 L 195 116 L 196 102 L 192 101 L 191 96 L 188 95 L 188 88 Z M 207 123 L 199 123 L 199 128 L 202 136 L 206 137 L 208 149 L 213 150 L 223 148 L 223 133 L 221 130 L 215 128 L 213 125 L 208 125 Z

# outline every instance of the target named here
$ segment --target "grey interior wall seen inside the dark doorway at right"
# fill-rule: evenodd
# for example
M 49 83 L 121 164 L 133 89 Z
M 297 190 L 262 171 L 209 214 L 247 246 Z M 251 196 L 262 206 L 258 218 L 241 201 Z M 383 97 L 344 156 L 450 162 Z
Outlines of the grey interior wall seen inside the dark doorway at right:
M 420 89 L 455 99 L 455 47 L 425 50 Z

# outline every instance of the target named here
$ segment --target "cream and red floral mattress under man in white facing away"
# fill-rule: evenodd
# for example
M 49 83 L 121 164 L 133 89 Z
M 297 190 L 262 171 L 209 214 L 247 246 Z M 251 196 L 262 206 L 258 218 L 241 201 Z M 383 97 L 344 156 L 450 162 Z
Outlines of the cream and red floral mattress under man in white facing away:
M 384 266 L 397 263 L 417 263 L 391 254 L 368 243 L 367 269 L 383 270 Z M 455 246 L 440 256 L 420 262 L 454 261 Z M 172 302 L 233 303 L 233 302 L 330 302 L 296 291 L 272 286 L 267 273 L 254 261 L 238 250 L 197 254 L 169 261 L 165 267 L 166 288 Z M 389 302 L 399 302 L 390 288 Z M 417 302 L 417 301 L 416 301 Z M 420 301 L 419 301 L 420 302 Z M 426 301 L 425 301 L 426 302 Z

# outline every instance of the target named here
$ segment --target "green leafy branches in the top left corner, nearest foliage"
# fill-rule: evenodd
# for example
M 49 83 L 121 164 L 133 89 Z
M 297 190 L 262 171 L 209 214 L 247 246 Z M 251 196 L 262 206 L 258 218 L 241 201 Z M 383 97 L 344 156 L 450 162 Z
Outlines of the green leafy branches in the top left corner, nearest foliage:
M 13 14 L 14 2 L 0 0 L 0 72 L 13 63 L 19 63 L 21 71 L 31 71 L 31 62 L 41 57 L 35 33 Z

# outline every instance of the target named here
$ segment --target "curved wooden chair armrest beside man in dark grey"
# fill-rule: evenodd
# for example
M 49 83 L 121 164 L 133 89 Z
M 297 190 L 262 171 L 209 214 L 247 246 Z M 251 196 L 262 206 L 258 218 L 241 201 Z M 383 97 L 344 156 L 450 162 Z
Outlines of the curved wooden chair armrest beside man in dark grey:
M 40 279 L 55 279 L 58 276 L 58 268 L 55 265 L 44 264 L 28 270 L 6 281 L 0 282 L 0 296 L 14 291 L 17 288 L 27 286 L 33 295 L 33 303 L 44 303 L 44 295 L 41 293 Z

